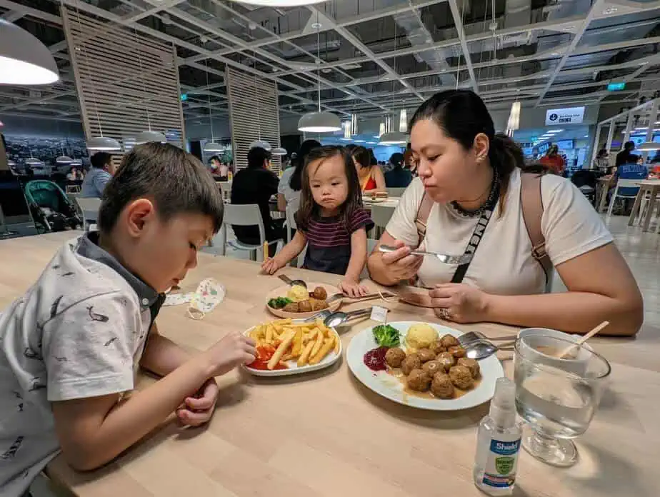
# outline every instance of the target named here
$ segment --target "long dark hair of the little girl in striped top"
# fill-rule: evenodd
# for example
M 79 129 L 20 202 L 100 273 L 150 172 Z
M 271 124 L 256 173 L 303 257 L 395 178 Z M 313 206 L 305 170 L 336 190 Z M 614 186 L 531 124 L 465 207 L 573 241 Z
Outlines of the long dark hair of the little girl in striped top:
M 319 206 L 314 202 L 314 196 L 311 194 L 311 186 L 309 186 L 309 178 L 312 174 L 319 169 L 319 166 L 332 157 L 340 156 L 344 161 L 344 173 L 349 184 L 349 191 L 346 195 L 346 201 L 339 207 L 339 216 L 344 221 L 346 226 L 349 226 L 349 221 L 357 209 L 362 207 L 362 191 L 360 189 L 360 181 L 357 176 L 353 159 L 351 154 L 344 149 L 343 146 L 326 145 L 309 152 L 305 161 L 302 177 L 302 190 L 300 194 L 300 206 L 296 213 L 296 225 L 301 231 L 309 229 L 309 221 L 312 216 L 319 214 Z M 319 161 L 319 164 L 314 168 L 314 171 L 309 170 L 311 163 Z

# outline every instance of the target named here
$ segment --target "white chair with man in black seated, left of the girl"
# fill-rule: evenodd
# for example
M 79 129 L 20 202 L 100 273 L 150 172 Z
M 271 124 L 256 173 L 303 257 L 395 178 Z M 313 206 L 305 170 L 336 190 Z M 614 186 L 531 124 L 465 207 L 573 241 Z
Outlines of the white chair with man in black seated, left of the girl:
M 244 244 L 239 240 L 227 239 L 227 225 L 235 226 L 258 226 L 259 227 L 259 245 Z M 250 260 L 257 260 L 257 252 L 261 253 L 261 261 L 264 261 L 264 241 L 266 241 L 266 230 L 264 229 L 264 219 L 261 218 L 261 211 L 256 204 L 236 205 L 226 204 L 224 206 L 224 216 L 222 219 L 222 228 L 211 241 L 211 247 L 204 249 L 207 253 L 214 253 L 216 256 L 226 254 L 226 246 L 229 244 L 236 250 L 250 252 Z M 284 244 L 282 239 L 269 241 L 269 244 L 277 243 L 276 251 L 281 250 Z

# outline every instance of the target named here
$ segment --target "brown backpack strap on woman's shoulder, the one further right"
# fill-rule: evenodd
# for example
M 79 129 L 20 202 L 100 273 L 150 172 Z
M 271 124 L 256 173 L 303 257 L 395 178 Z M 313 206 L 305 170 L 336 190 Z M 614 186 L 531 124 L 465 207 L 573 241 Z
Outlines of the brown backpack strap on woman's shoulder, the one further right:
M 543 174 L 521 173 L 520 206 L 527 236 L 531 241 L 531 256 L 541 265 L 546 275 L 546 287 L 550 281 L 552 261 L 546 252 L 546 239 L 541 231 L 543 217 L 543 198 L 541 197 L 541 178 Z

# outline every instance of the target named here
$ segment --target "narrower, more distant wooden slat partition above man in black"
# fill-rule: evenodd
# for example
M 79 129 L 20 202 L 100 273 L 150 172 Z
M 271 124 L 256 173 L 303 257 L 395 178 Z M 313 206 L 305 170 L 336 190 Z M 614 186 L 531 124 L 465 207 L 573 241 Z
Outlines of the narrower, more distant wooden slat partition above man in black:
M 247 167 L 249 145 L 260 138 L 259 134 L 261 141 L 268 141 L 273 148 L 280 146 L 277 84 L 230 67 L 226 69 L 226 83 L 234 165 L 243 169 Z M 279 173 L 281 158 L 273 156 L 271 164 Z

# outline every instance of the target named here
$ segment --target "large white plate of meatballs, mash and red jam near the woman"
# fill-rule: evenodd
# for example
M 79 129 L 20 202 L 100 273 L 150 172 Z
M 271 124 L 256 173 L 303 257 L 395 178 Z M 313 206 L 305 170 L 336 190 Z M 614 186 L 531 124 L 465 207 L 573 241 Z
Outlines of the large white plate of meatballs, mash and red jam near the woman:
M 504 376 L 496 356 L 475 361 L 456 337 L 461 331 L 436 323 L 388 323 L 399 331 L 399 346 L 379 346 L 373 328 L 352 338 L 346 361 L 356 378 L 379 395 L 406 406 L 457 411 L 479 406 Z

